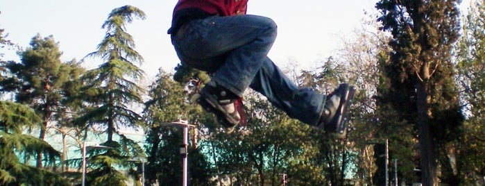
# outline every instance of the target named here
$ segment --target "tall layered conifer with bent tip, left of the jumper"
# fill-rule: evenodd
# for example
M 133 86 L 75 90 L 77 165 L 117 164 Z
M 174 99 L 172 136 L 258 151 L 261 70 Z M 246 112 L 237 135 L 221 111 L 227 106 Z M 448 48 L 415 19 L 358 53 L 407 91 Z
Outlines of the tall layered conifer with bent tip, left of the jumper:
M 112 149 L 92 151 L 89 157 L 93 171 L 87 174 L 90 185 L 125 185 L 127 179 L 116 165 L 128 166 L 128 158 L 143 156 L 142 148 L 133 140 L 122 135 L 120 130 L 142 126 L 141 116 L 135 112 L 142 105 L 144 90 L 136 84 L 144 76 L 137 67 L 143 61 L 135 51 L 133 37 L 126 33 L 126 24 L 133 19 L 145 19 L 145 14 L 133 6 L 114 8 L 101 28 L 106 34 L 89 57 L 101 58 L 104 62 L 96 69 L 91 69 L 82 78 L 83 87 L 78 99 L 83 101 L 83 113 L 75 121 L 87 133 L 87 128 L 104 128 L 107 135 L 105 146 Z M 119 141 L 115 142 L 113 136 Z

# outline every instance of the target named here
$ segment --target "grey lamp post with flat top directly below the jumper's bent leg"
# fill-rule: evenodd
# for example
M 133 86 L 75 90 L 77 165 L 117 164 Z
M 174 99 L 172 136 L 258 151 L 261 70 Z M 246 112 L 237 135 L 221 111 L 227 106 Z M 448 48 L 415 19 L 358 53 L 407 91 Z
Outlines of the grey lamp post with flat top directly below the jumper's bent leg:
M 183 136 L 183 144 L 180 146 L 180 155 L 182 155 L 182 186 L 187 186 L 187 155 L 189 154 L 187 151 L 187 142 L 189 141 L 189 127 L 195 127 L 187 122 L 187 120 L 178 120 L 176 122 L 171 123 L 162 123 L 169 126 L 178 126 L 184 129 L 184 136 Z

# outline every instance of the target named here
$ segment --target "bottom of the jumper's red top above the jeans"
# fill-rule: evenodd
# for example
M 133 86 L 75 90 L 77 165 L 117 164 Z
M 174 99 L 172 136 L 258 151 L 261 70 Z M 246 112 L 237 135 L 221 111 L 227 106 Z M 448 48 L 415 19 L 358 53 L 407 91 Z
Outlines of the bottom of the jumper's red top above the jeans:
M 199 8 L 210 15 L 245 15 L 248 0 L 179 0 L 173 14 L 185 8 Z

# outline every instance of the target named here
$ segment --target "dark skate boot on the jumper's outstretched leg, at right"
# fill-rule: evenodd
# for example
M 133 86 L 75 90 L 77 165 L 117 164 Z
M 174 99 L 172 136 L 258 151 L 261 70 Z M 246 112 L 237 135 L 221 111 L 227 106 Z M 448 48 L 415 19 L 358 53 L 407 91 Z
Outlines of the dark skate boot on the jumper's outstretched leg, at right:
M 339 138 L 345 137 L 347 110 L 356 92 L 356 87 L 347 83 L 340 84 L 334 92 L 327 96 L 318 126 L 327 132 L 335 133 Z

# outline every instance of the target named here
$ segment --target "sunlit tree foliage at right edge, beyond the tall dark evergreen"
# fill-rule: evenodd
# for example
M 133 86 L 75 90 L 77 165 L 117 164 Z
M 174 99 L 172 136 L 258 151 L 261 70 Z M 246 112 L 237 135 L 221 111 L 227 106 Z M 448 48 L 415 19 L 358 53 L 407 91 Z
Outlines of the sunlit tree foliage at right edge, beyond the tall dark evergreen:
M 485 155 L 485 1 L 479 0 L 470 7 L 464 19 L 463 36 L 458 48 L 457 78 L 462 85 L 461 102 L 465 105 L 466 122 L 461 126 L 463 133 L 454 143 L 457 167 L 464 184 L 471 185 L 482 180 L 485 162 L 479 158 Z

